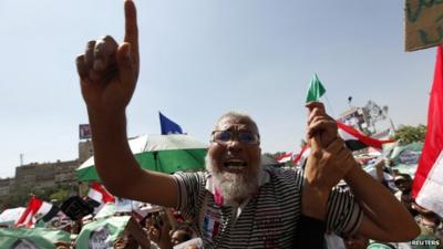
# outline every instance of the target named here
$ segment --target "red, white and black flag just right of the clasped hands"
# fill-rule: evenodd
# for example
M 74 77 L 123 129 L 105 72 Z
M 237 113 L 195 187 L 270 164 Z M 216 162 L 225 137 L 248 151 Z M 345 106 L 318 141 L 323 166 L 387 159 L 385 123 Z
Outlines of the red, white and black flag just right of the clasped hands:
M 378 149 L 383 148 L 383 144 L 393 143 L 394 141 L 379 141 L 370 136 L 361 134 L 359 131 L 348 126 L 343 123 L 337 122 L 339 134 L 344 139 L 346 146 L 353 151 L 359 151 L 365 147 L 373 147 Z

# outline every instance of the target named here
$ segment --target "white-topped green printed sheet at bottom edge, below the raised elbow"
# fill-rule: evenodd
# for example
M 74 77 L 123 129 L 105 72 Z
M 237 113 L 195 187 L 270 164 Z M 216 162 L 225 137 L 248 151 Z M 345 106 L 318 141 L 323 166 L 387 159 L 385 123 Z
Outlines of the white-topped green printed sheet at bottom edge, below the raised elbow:
M 83 226 L 75 240 L 75 248 L 107 249 L 123 235 L 131 216 L 113 216 Z

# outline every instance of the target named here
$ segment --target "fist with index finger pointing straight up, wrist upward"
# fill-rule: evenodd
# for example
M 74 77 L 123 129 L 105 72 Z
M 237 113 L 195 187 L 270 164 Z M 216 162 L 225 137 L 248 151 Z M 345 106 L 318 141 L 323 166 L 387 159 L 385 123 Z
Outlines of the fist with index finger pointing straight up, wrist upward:
M 136 9 L 125 0 L 125 37 L 120 45 L 112 37 L 87 42 L 76 58 L 83 98 L 90 112 L 123 111 L 131 101 L 138 77 L 138 31 Z

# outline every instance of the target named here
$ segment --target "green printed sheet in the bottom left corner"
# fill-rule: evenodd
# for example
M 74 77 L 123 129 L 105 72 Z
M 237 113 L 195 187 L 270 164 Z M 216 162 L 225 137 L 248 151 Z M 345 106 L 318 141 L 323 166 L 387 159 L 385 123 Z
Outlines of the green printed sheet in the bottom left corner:
M 0 249 L 14 249 L 19 243 L 30 249 L 55 249 L 55 242 L 70 242 L 70 234 L 44 228 L 0 228 Z

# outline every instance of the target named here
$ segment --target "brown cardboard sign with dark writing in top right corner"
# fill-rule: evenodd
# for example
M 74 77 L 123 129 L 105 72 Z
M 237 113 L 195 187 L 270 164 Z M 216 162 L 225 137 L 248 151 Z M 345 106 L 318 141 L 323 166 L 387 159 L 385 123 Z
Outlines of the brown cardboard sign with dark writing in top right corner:
M 442 0 L 405 0 L 404 12 L 406 51 L 443 43 Z

